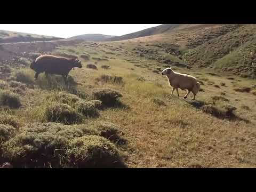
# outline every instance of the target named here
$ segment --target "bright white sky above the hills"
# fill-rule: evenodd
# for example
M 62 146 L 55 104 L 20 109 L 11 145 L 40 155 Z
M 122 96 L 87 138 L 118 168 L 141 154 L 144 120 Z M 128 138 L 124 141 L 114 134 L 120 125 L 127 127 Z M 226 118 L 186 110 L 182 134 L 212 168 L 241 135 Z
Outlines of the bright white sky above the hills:
M 68 38 L 83 34 L 126 35 L 161 24 L 0 24 L 0 30 Z

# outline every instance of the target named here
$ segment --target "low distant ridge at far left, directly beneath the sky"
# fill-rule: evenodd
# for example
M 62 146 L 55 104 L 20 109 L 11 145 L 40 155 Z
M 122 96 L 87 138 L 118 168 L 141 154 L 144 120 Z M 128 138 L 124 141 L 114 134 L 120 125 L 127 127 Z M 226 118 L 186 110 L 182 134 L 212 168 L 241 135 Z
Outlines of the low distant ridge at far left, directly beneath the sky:
M 0 30 L 0 43 L 55 41 L 63 38 Z

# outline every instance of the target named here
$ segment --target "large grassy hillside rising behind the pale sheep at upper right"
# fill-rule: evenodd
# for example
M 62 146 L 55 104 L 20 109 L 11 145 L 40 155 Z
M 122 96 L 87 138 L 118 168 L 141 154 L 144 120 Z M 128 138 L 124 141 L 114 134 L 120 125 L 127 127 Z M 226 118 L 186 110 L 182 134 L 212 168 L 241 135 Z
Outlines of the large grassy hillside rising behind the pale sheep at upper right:
M 135 49 L 137 45 L 146 44 L 147 54 L 158 61 L 163 60 L 165 53 L 193 68 L 255 78 L 255 28 L 256 25 L 245 24 L 180 25 L 161 34 L 121 42 L 133 43 Z

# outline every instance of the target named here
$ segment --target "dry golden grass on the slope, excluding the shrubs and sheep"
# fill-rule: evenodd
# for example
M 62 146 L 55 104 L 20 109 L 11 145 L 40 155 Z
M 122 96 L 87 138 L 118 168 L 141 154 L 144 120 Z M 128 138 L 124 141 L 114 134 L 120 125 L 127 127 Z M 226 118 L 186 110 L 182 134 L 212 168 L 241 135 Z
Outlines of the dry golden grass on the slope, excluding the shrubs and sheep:
M 121 42 L 106 44 L 115 47 Z M 81 53 L 89 52 L 91 49 L 68 48 Z M 102 57 L 105 53 L 97 50 L 100 48 L 100 46 L 95 47 L 94 51 L 97 54 L 90 56 Z M 135 59 L 133 55 L 129 57 Z M 204 81 L 204 84 L 214 82 L 215 85 L 225 85 L 220 88 L 214 85 L 201 85 L 204 92 L 199 92 L 196 99 L 202 103 L 210 102 L 218 108 L 224 108 L 227 104 L 234 106 L 237 108 L 236 115 L 248 119 L 250 123 L 228 121 L 205 114 L 202 109 L 190 105 L 187 101 L 191 101 L 193 95 L 190 94 L 188 99 L 184 100 L 182 96 L 186 94 L 185 91 L 179 90 L 180 98 L 175 92 L 171 97 L 171 87 L 168 86 L 166 77 L 152 73 L 147 68 L 135 67 L 134 63 L 125 61 L 122 54 L 115 55 L 115 58 L 98 61 L 98 66 L 108 65 L 109 70 L 101 67 L 98 67 L 98 70 L 86 68 L 90 61 L 83 61 L 83 68 L 72 70 L 70 76 L 77 83 L 73 87 L 76 91 L 90 94 L 94 89 L 106 88 L 117 90 L 123 95 L 120 98 L 123 107 L 105 108 L 99 111 L 98 118 L 83 119 L 83 123 L 98 124 L 99 121 L 105 121 L 118 125 L 122 137 L 127 140 L 127 145 L 117 146 L 126 156 L 126 165 L 129 167 L 256 167 L 255 97 L 252 93 L 235 92 L 234 84 L 231 83 L 235 81 L 237 87 L 243 87 L 255 82 L 237 77 L 231 80 L 225 75 L 207 75 L 203 70 L 175 68 L 175 71 L 180 73 L 199 76 L 198 79 Z M 136 59 L 152 68 L 158 67 L 154 60 Z M 95 82 L 95 78 L 101 75 L 122 77 L 123 83 Z M 45 77 L 41 78 L 41 82 L 44 82 Z M 19 117 L 19 123 L 45 122 L 43 116 L 47 103 L 45 100 L 54 88 L 51 85 L 51 89 L 46 89 L 45 86 L 39 86 L 38 82 L 35 82 L 35 89 L 26 89 L 26 94 L 21 96 L 23 107 L 12 113 Z M 68 92 L 69 88 L 63 87 Z M 60 89 L 55 91 L 59 92 Z M 212 99 L 219 98 L 223 92 L 225 93 L 223 97 L 228 100 Z M 162 101 L 164 105 L 156 105 L 156 100 Z M 244 110 L 241 106 L 249 106 L 250 111 Z

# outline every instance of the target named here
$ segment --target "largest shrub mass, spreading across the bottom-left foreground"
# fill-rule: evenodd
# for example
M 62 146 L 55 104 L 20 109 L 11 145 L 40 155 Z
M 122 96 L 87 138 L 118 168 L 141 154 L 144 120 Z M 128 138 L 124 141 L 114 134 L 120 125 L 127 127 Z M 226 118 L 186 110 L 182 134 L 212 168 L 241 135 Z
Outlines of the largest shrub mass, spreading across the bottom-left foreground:
M 3 145 L 14 167 L 119 167 L 119 151 L 86 126 L 29 124 Z

